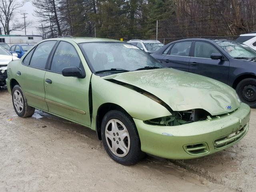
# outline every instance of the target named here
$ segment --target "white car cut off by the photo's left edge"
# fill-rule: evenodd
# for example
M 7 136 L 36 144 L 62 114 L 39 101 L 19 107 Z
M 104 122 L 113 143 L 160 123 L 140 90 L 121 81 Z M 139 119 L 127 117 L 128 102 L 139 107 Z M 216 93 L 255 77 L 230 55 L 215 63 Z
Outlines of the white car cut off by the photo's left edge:
M 12 60 L 19 59 L 17 56 L 18 54 L 10 54 L 10 52 L 0 46 L 0 86 L 4 86 L 6 84 L 5 80 L 7 78 L 6 70 L 8 63 Z

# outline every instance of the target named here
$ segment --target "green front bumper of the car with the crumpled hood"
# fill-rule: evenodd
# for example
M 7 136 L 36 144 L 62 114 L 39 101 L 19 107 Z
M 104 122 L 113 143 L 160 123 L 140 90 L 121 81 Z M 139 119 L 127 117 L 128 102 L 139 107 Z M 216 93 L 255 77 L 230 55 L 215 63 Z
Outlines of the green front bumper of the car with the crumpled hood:
M 134 119 L 141 150 L 169 159 L 192 159 L 213 154 L 239 142 L 248 132 L 250 107 L 180 126 L 154 126 Z

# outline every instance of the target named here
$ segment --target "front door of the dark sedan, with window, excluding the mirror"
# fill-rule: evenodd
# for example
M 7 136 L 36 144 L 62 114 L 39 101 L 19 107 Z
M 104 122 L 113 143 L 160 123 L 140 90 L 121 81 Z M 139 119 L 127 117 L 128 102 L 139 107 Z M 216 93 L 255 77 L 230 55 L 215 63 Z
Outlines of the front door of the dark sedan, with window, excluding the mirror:
M 193 47 L 194 53 L 190 59 L 189 72 L 228 83 L 229 61 L 224 54 L 209 42 L 196 41 Z M 211 59 L 212 53 L 222 54 L 223 59 Z

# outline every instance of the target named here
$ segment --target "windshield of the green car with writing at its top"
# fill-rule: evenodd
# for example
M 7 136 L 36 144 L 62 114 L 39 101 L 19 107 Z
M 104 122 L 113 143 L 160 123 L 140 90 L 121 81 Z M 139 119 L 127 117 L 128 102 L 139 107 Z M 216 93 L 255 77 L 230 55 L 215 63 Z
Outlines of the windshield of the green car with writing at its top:
M 83 43 L 81 47 L 96 72 L 111 69 L 124 72 L 163 67 L 152 56 L 128 43 L 92 42 Z

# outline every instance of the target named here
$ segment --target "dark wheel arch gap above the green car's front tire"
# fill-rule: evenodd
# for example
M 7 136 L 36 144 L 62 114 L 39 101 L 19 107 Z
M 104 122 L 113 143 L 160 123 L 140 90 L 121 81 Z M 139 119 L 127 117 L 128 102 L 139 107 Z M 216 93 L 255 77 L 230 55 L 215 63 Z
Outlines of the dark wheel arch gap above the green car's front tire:
M 96 134 L 98 136 L 99 140 L 102 140 L 101 138 L 101 123 L 102 123 L 102 119 L 105 116 L 105 114 L 111 110 L 119 110 L 122 111 L 126 114 L 128 114 L 128 112 L 126 110 L 124 110 L 124 108 L 122 108 L 121 106 L 119 106 L 118 104 L 114 104 L 114 103 L 104 103 L 102 104 L 98 110 L 97 110 L 97 116 L 96 116 Z M 130 116 L 130 114 L 128 114 Z

